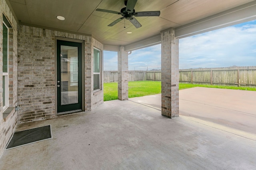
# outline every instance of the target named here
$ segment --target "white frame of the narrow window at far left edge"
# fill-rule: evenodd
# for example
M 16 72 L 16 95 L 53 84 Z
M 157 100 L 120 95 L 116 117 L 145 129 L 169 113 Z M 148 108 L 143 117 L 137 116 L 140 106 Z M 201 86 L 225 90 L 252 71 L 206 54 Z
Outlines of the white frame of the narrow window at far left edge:
M 9 79 L 8 79 L 9 77 L 9 27 L 6 25 L 6 23 L 4 23 L 4 21 L 3 21 L 3 25 L 6 26 L 7 28 L 7 72 L 3 72 L 3 80 L 5 80 L 5 84 L 3 84 L 2 86 L 3 88 L 5 85 L 5 90 L 3 90 L 3 93 L 5 94 L 5 101 L 4 101 L 5 106 L 3 106 L 3 110 L 6 110 L 9 106 Z

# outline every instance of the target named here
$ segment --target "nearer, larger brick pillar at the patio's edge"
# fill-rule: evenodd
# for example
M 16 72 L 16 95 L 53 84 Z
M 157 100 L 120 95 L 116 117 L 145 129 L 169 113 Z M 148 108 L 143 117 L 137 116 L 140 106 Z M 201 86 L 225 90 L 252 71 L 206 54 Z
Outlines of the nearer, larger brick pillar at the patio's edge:
M 162 115 L 179 116 L 179 40 L 174 28 L 161 31 Z

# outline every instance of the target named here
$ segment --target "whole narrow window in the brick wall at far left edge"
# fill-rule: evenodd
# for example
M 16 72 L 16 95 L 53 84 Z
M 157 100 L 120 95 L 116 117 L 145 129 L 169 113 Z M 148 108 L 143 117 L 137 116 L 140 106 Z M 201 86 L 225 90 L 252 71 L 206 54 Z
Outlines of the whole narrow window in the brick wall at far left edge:
M 8 27 L 3 22 L 3 109 L 8 107 Z

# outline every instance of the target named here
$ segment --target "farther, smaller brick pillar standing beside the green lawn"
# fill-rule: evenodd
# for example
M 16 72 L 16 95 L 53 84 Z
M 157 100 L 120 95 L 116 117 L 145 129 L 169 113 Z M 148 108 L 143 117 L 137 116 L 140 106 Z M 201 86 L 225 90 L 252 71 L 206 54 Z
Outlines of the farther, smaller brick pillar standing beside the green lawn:
M 118 51 L 118 99 L 128 100 L 128 52 L 124 46 Z

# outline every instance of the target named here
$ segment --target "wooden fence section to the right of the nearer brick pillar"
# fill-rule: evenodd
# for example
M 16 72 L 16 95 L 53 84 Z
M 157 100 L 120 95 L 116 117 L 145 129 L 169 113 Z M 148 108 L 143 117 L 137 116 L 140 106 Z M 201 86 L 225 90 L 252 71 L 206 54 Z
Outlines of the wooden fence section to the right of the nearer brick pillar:
M 180 83 L 256 87 L 256 66 L 180 70 Z

